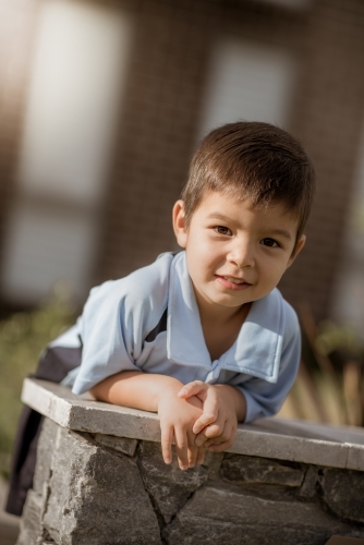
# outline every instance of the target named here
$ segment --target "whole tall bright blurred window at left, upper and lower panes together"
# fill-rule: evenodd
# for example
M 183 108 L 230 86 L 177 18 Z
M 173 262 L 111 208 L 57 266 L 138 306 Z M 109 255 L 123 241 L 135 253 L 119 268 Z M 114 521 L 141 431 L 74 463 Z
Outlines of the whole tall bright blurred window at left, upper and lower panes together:
M 33 304 L 59 278 L 78 299 L 89 289 L 131 32 L 110 7 L 44 3 L 4 245 L 10 301 Z

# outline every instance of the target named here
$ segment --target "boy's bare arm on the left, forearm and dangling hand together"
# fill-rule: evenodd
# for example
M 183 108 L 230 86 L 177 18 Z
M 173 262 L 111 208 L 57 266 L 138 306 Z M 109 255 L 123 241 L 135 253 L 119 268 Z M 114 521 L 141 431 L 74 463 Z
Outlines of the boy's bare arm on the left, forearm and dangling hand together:
M 112 375 L 90 389 L 96 399 L 110 403 L 158 412 L 163 460 L 171 463 L 174 439 L 181 469 L 203 463 L 204 448 L 195 445 L 192 427 L 203 413 L 202 401 L 192 396 L 181 399 L 178 392 L 183 384 L 177 378 L 124 371 Z

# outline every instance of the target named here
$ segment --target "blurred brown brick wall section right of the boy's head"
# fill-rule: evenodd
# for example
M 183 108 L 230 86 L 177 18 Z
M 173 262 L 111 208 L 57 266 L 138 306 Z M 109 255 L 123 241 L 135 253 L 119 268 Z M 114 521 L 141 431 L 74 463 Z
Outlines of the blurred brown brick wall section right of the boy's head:
M 307 246 L 282 289 L 294 303 L 308 301 L 323 317 L 342 258 L 344 217 L 363 124 L 364 4 L 315 2 L 306 44 L 292 128 L 314 161 L 317 193 Z

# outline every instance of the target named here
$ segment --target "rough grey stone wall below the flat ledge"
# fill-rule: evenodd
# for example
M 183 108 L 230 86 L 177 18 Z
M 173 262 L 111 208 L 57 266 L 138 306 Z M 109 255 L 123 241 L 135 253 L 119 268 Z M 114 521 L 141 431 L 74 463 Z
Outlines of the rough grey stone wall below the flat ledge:
M 17 545 L 324 545 L 364 537 L 363 498 L 362 471 L 225 452 L 183 472 L 45 419 Z

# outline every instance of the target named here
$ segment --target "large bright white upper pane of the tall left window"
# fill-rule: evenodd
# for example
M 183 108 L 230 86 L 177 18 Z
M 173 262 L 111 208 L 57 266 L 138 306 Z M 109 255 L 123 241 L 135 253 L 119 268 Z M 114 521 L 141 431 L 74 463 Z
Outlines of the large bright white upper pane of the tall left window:
M 84 204 L 99 198 L 130 34 L 119 10 L 45 3 L 20 158 L 23 190 Z

